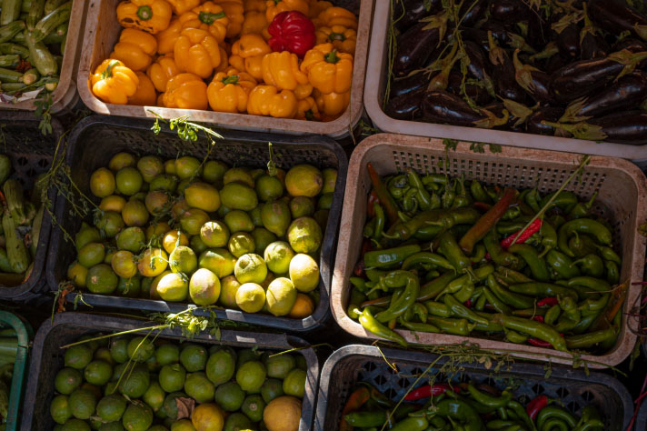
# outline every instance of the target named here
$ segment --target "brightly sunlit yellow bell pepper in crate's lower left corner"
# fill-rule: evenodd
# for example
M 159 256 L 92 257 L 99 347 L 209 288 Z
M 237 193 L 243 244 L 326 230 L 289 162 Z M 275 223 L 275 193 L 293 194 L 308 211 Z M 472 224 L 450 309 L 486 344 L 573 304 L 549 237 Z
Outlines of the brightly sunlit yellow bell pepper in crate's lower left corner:
M 125 105 L 137 91 L 139 78 L 115 58 L 108 58 L 90 75 L 92 93 L 108 104 Z

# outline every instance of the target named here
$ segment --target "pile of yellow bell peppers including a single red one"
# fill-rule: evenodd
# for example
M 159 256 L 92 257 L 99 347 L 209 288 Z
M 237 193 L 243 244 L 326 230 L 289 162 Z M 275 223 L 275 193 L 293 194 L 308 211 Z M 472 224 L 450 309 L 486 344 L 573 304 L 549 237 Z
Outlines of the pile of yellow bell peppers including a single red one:
M 349 105 L 357 17 L 328 1 L 126 0 L 116 15 L 89 83 L 105 103 L 310 121 Z

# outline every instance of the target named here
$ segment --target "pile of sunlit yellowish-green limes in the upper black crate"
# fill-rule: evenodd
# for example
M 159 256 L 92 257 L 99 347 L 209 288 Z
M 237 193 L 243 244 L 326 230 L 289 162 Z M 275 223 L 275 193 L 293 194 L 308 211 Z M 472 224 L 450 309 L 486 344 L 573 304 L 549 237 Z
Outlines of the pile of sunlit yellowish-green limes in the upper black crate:
M 114 155 L 67 276 L 91 293 L 310 316 L 337 172 Z

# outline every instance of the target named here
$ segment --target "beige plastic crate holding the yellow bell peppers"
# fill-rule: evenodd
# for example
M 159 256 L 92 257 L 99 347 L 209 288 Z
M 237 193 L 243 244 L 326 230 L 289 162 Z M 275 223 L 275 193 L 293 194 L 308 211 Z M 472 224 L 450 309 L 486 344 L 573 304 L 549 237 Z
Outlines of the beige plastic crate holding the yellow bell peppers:
M 88 78 L 90 72 L 94 72 L 96 66 L 100 65 L 112 53 L 113 46 L 119 39 L 119 34 L 122 30 L 116 19 L 116 6 L 119 2 L 120 0 L 90 0 L 88 5 L 85 40 L 79 65 L 77 86 L 81 100 L 87 107 L 98 114 L 154 118 L 155 115 L 149 112 L 150 109 L 165 119 L 189 115 L 193 121 L 220 125 L 235 130 L 290 135 L 317 134 L 331 137 L 348 135 L 360 120 L 363 113 L 363 84 L 366 72 L 366 57 L 368 56 L 368 40 L 371 34 L 373 0 L 332 0 L 331 2 L 334 5 L 346 7 L 354 13 L 359 12 L 359 21 L 353 62 L 351 103 L 342 116 L 328 123 L 196 109 L 105 104 L 93 95 Z

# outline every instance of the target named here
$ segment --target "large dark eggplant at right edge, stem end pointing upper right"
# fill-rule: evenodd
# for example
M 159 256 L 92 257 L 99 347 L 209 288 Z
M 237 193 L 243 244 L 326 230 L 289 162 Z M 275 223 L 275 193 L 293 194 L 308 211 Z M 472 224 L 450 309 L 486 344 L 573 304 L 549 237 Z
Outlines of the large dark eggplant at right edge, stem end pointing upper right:
M 627 50 L 604 58 L 580 60 L 565 65 L 551 75 L 551 91 L 558 103 L 572 102 L 582 95 L 606 85 L 647 58 L 647 53 L 632 54 Z

